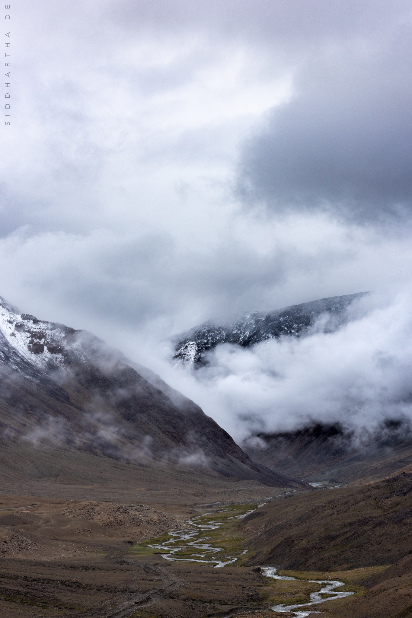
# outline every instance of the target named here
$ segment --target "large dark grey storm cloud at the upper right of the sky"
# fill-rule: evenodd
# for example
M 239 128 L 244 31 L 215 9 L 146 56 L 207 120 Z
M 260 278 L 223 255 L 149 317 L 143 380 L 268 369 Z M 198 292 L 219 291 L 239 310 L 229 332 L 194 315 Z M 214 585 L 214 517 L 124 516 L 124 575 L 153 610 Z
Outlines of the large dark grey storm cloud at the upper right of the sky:
M 356 221 L 411 213 L 412 22 L 387 17 L 374 31 L 308 48 L 292 100 L 243 148 L 246 202 Z

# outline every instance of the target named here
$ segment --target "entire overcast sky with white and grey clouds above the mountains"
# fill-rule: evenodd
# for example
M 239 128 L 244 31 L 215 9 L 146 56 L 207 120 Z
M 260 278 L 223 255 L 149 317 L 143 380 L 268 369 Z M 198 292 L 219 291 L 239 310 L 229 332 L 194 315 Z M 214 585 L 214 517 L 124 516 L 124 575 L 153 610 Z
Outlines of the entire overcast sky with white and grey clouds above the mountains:
M 235 366 L 219 350 L 220 369 L 196 378 L 170 368 L 172 334 L 372 290 L 374 306 L 357 328 L 387 337 L 377 345 L 364 336 L 371 367 L 380 353 L 410 366 L 399 347 L 410 332 L 410 2 L 10 6 L 9 20 L 1 14 L 11 43 L 0 161 L 4 298 L 94 332 L 237 439 L 251 426 L 241 417 L 275 430 L 285 410 L 293 425 L 350 407 L 339 386 L 346 370 L 338 363 L 332 379 L 324 365 L 341 350 L 347 389 L 365 366 L 356 329 L 327 341 L 315 334 L 305 350 L 280 343 L 250 352 Z M 397 336 L 387 333 L 389 316 Z M 261 379 L 279 354 L 290 371 L 275 396 Z M 318 368 L 316 394 L 307 391 L 305 354 Z M 379 372 L 364 376 L 375 386 L 359 419 L 407 399 L 395 374 L 397 395 L 386 404 L 379 396 L 380 407 Z

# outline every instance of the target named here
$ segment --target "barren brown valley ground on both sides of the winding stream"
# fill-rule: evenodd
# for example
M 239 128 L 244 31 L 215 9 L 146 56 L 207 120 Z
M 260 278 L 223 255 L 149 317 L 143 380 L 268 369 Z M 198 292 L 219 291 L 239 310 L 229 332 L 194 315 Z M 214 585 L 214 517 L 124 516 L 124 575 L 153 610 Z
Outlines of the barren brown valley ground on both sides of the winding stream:
M 410 483 L 410 478 L 402 475 L 362 488 L 309 491 L 293 499 L 287 497 L 291 495 L 287 493 L 290 490 L 238 487 L 238 506 L 233 504 L 236 501 L 222 500 L 220 504 L 193 504 L 192 500 L 183 501 L 179 490 L 175 499 L 170 490 L 167 501 L 162 503 L 3 495 L 0 496 L 0 615 L 4 618 L 292 618 L 295 614 L 278 614 L 271 607 L 309 601 L 311 592 L 321 588 L 309 580 L 338 579 L 345 583 L 340 590 L 354 594 L 311 606 L 311 611 L 328 611 L 329 616 L 338 618 L 407 618 L 412 615 L 412 555 L 408 554 L 409 535 L 403 527 L 405 517 L 402 519 L 399 514 L 405 514 L 410 508 L 405 489 Z M 242 491 L 247 494 L 243 500 Z M 271 493 L 278 495 L 256 508 L 265 493 L 264 497 Z M 391 497 L 397 493 L 405 495 Z M 218 496 L 207 495 L 211 502 L 218 502 L 213 499 Z M 377 496 L 382 501 L 378 501 L 378 509 L 374 500 Z M 344 506 L 346 520 L 340 516 Z M 245 519 L 237 519 L 237 513 L 245 514 L 251 509 L 256 510 Z M 366 513 L 368 509 L 372 509 L 372 515 Z M 225 517 L 219 530 L 207 532 L 208 542 L 228 548 L 229 552 L 248 548 L 242 559 L 216 569 L 210 564 L 169 562 L 149 547 L 153 542 L 163 542 L 167 530 L 184 528 L 190 518 L 206 513 L 214 520 Z M 317 548 L 317 567 L 285 570 L 283 565 L 282 570 L 279 556 L 274 562 L 267 553 L 276 547 L 275 541 L 279 541 L 277 546 L 282 543 L 282 533 L 272 530 L 271 535 L 261 535 L 271 525 L 282 524 L 286 538 L 291 536 L 291 527 L 297 537 L 303 524 L 299 528 L 296 518 L 303 522 L 305 514 L 306 531 L 319 530 L 311 541 Z M 399 523 L 393 521 L 397 515 Z M 371 520 L 371 516 L 375 519 Z M 358 549 L 352 552 L 353 562 L 341 561 L 341 564 L 338 556 L 346 550 L 337 547 L 336 539 L 331 544 L 329 532 L 324 528 L 332 536 L 334 530 L 346 530 L 346 533 L 355 530 L 356 538 L 361 539 L 361 520 L 364 520 L 364 533 L 372 534 L 369 548 L 368 543 L 358 543 Z M 376 539 L 371 528 L 373 522 L 379 522 L 375 527 Z M 408 518 L 406 522 L 409 525 Z M 381 529 L 384 535 L 379 533 Z M 326 534 L 321 534 L 322 531 Z M 279 539 L 276 535 L 280 535 Z M 377 540 L 381 536 L 385 541 Z M 306 547 L 310 544 L 308 538 L 300 536 L 296 541 L 306 541 Z M 340 545 L 345 543 L 348 540 Z M 396 557 L 392 565 L 393 561 L 387 560 L 391 543 Z M 316 562 L 313 548 L 301 554 L 296 548 L 292 553 L 285 548 L 284 562 L 292 554 L 295 562 L 300 555 L 302 564 Z M 319 568 L 322 560 L 325 565 L 330 562 L 331 555 L 334 567 Z M 356 565 L 356 561 L 361 564 Z M 277 565 L 279 575 L 295 579 L 263 577 L 259 565 L 266 564 Z M 302 607 L 305 609 L 309 608 Z

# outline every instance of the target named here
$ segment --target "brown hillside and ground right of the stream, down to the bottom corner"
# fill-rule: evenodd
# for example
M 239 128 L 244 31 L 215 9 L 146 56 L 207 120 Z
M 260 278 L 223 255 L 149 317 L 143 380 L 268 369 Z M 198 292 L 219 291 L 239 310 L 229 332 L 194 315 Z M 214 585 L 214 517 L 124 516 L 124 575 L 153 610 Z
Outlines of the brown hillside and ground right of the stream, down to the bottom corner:
M 345 618 L 412 615 L 411 466 L 377 483 L 287 496 L 243 519 L 245 546 L 256 549 L 249 564 L 294 577 L 326 575 L 361 589 L 360 598 L 314 610 Z

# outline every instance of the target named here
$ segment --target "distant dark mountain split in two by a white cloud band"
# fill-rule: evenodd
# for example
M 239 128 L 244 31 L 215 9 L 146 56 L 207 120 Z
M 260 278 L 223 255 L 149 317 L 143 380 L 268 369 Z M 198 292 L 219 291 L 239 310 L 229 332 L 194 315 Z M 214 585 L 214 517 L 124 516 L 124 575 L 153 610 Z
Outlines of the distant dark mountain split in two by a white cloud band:
M 227 325 L 209 321 L 175 338 L 174 358 L 196 368 L 208 362 L 208 350 L 218 344 L 250 347 L 281 336 L 304 336 L 316 322 L 316 328 L 334 331 L 348 320 L 347 308 L 366 294 L 321 298 L 269 313 L 245 313 Z M 387 421 L 362 435 L 339 423 L 312 423 L 290 432 L 256 434 L 242 448 L 253 461 L 308 483 L 369 482 L 412 463 L 412 432 L 405 421 Z

